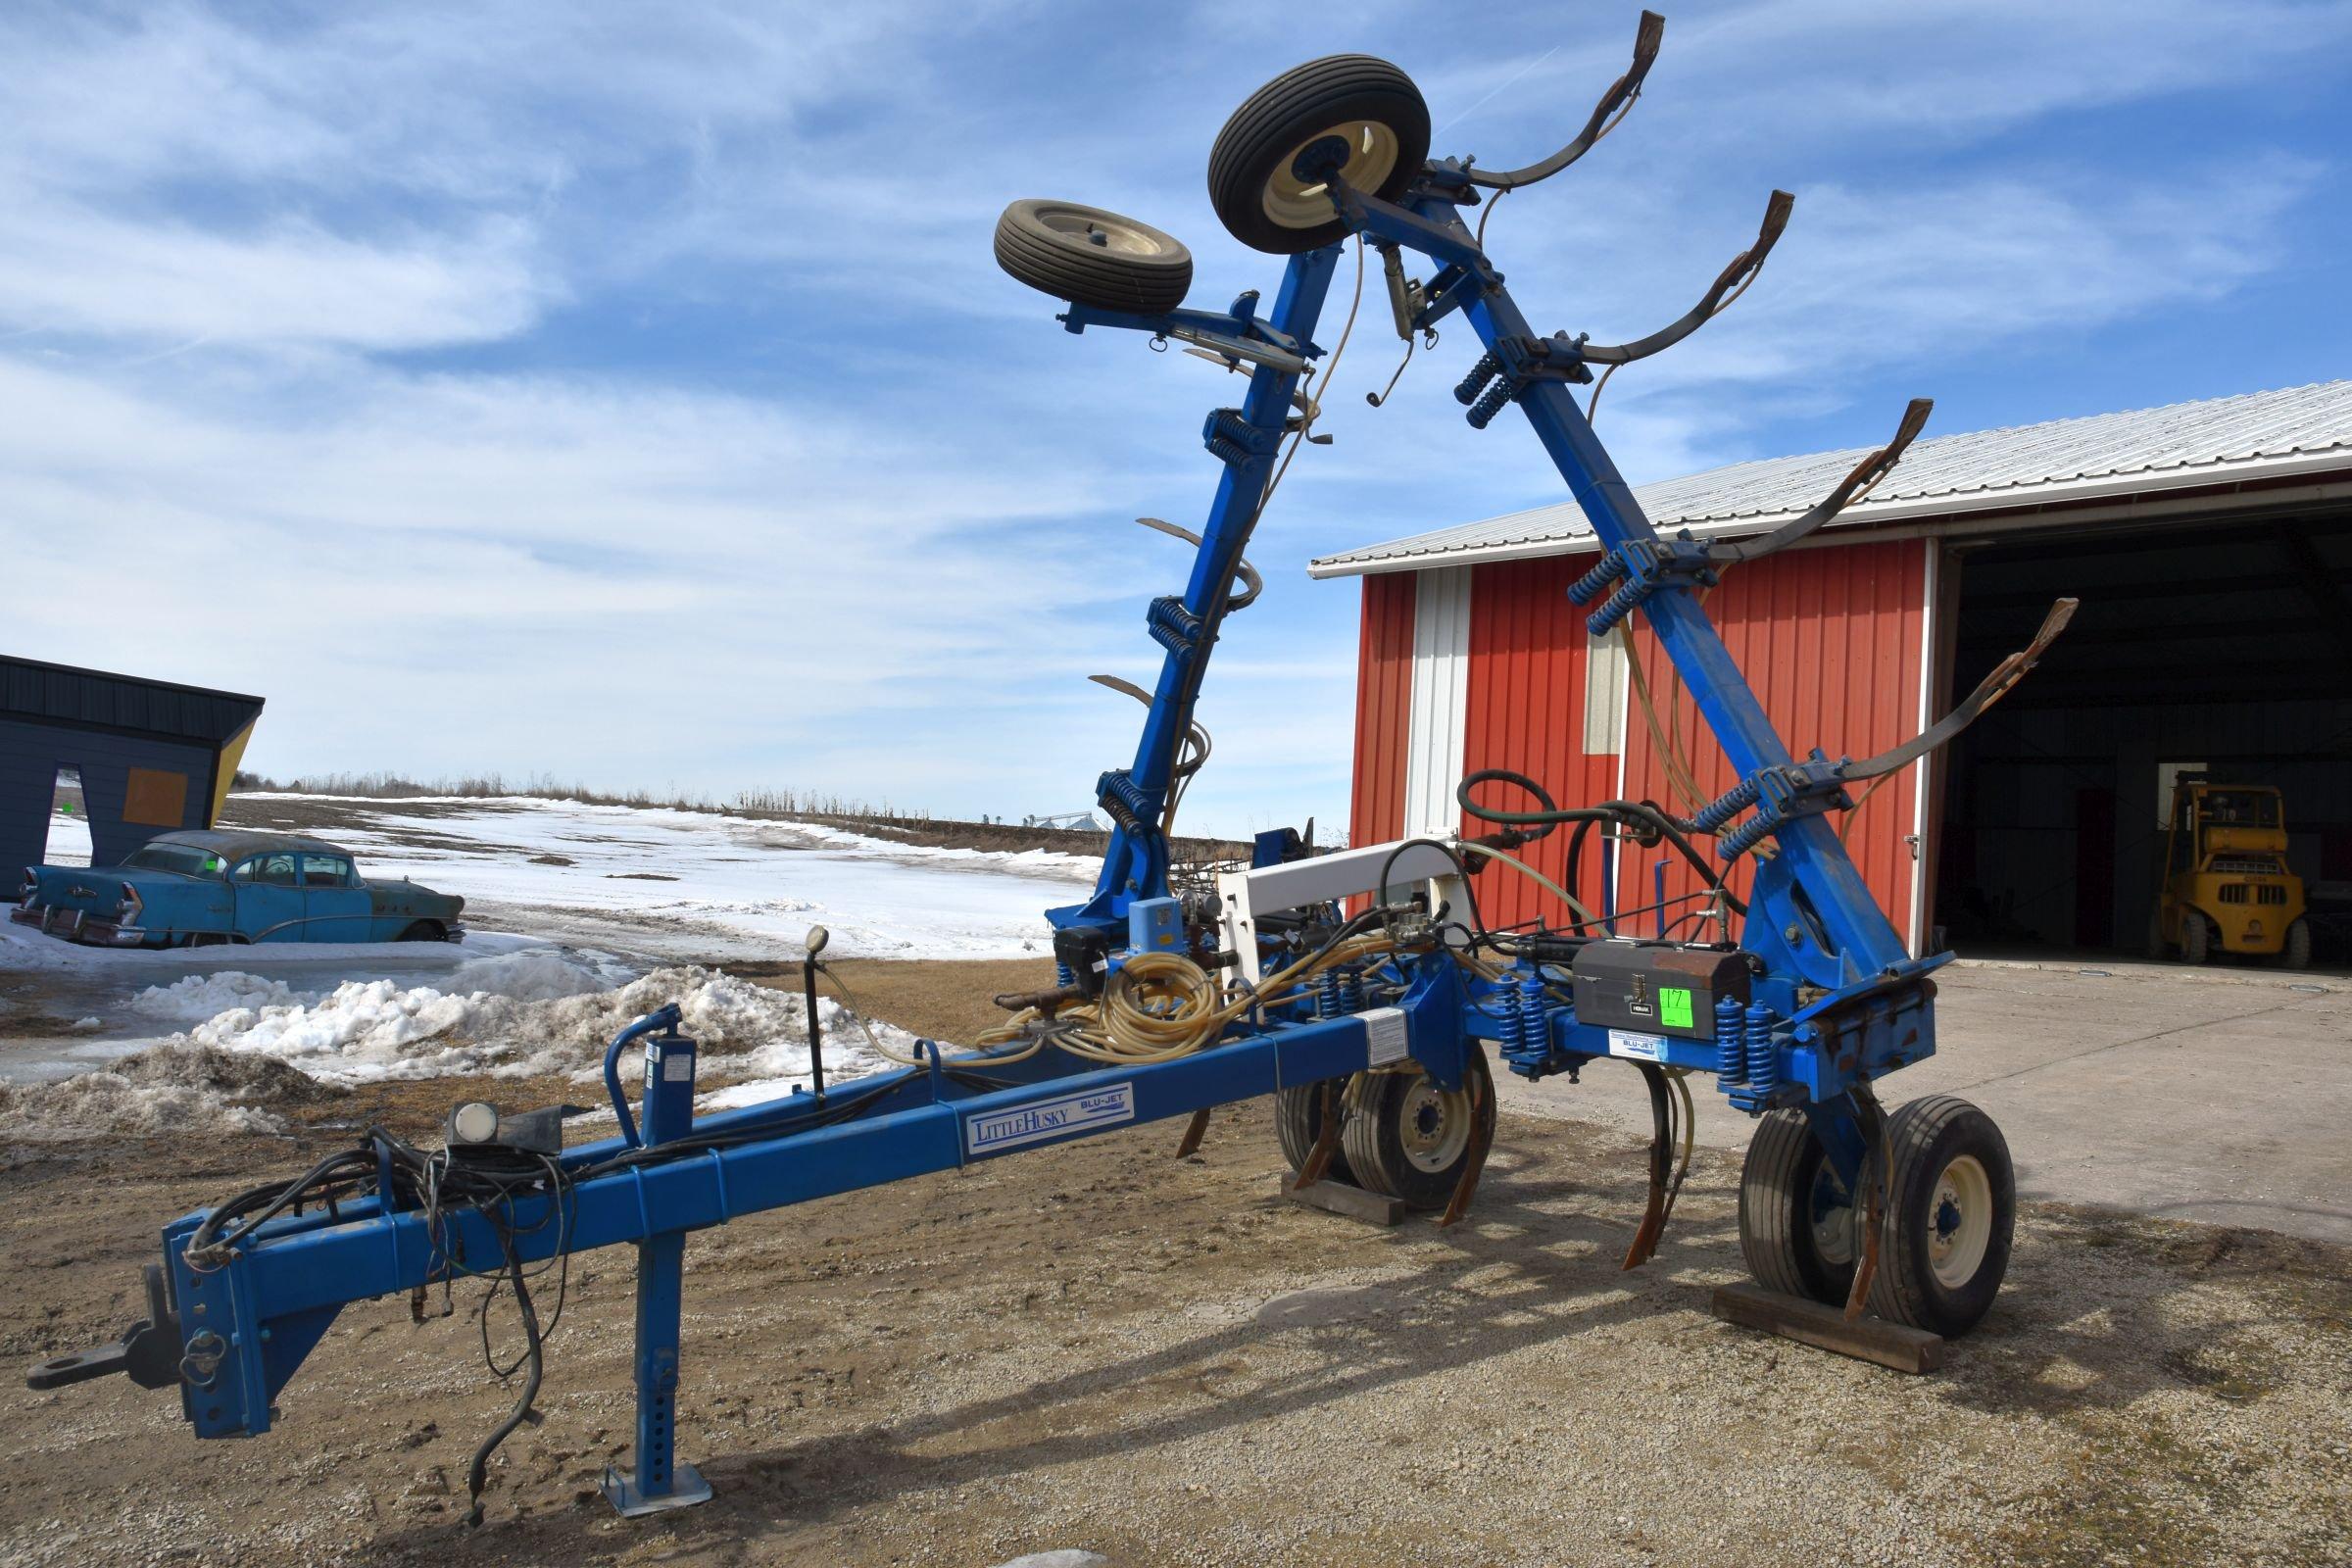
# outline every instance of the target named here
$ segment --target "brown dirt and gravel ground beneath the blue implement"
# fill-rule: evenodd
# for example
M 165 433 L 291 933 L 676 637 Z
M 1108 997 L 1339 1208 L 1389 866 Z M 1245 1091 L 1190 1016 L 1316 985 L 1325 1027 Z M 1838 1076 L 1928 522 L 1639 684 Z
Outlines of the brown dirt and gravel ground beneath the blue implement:
M 844 964 L 969 1034 L 1035 964 Z M 440 1079 L 303 1107 L 289 1140 L 0 1152 L 0 1356 L 120 1333 L 158 1225 L 292 1173 Z M 169 1394 L 0 1392 L 0 1561 L 823 1563 L 2352 1563 L 2352 1253 L 2030 1206 L 2009 1288 L 1931 1378 L 1708 1314 L 1740 1279 L 1736 1164 L 1618 1272 L 1637 1145 L 1505 1114 L 1470 1222 L 1374 1229 L 1275 1194 L 1263 1103 L 1200 1157 L 1155 1124 L 739 1220 L 687 1253 L 677 1448 L 703 1507 L 619 1521 L 633 1258 L 588 1253 L 543 1422 L 463 1472 L 510 1392 L 473 1295 L 341 1314 L 278 1429 L 200 1443 Z M 501 1342 L 513 1321 L 494 1314 Z

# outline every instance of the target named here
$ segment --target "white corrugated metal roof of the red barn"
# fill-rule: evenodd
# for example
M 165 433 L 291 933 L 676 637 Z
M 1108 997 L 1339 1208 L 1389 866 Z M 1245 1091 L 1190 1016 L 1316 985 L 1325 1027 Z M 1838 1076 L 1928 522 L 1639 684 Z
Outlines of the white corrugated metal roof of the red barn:
M 1849 447 L 1731 463 L 1642 484 L 1635 496 L 1661 531 L 1689 527 L 1693 534 L 1755 534 L 1818 503 L 1867 451 L 1870 447 Z M 1903 454 L 1877 491 L 1849 505 L 1830 527 L 2345 468 L 2352 468 L 2352 381 L 2321 381 L 2277 393 L 1926 437 Z M 1324 555 L 1308 562 L 1308 576 L 1411 571 L 1588 548 L 1592 524 L 1583 508 L 1559 501 Z

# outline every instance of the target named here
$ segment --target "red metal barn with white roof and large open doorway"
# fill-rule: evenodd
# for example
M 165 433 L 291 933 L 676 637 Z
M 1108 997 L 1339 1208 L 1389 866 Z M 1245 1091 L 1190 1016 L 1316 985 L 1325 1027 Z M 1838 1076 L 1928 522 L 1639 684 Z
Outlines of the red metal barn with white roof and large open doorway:
M 1661 531 L 1755 534 L 1860 456 L 1639 498 Z M 1362 578 L 1352 842 L 1475 832 L 1454 785 L 1489 766 L 1562 804 L 1682 813 L 1733 783 L 1649 632 L 1585 635 L 1564 590 L 1592 559 L 1559 503 L 1312 562 Z M 2284 788 L 2293 867 L 2324 917 L 2352 912 L 2352 381 L 1924 440 L 1820 536 L 1733 569 L 1708 611 L 1797 755 L 1865 757 L 2023 646 L 2058 595 L 2084 607 L 2042 668 L 1844 818 L 1912 950 L 1938 931 L 1976 950 L 2140 945 L 2180 766 Z M 1566 837 L 1526 853 L 1562 877 Z M 1625 846 L 1609 889 L 1602 865 L 1588 844 L 1576 891 L 1639 910 L 1623 931 L 1658 929 L 1658 865 L 1668 924 L 1696 907 L 1672 856 Z M 1494 924 L 1559 919 L 1508 872 L 1479 898 Z

